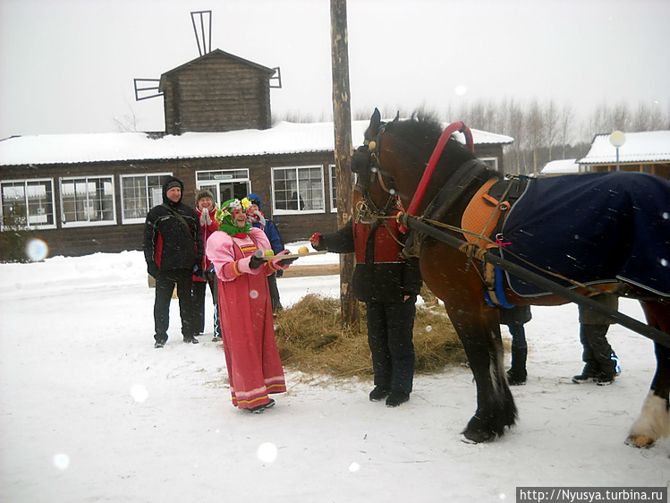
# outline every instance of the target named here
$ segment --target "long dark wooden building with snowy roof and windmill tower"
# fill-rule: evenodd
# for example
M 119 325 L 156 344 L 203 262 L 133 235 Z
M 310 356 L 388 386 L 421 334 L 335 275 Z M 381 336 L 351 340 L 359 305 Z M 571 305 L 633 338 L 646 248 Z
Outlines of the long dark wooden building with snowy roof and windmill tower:
M 182 179 L 187 204 L 203 188 L 217 203 L 258 193 L 284 243 L 335 230 L 333 124 L 270 127 L 272 72 L 215 50 L 161 76 L 165 133 L 0 141 L 0 247 L 18 223 L 38 231 L 52 256 L 139 250 L 166 175 Z M 367 125 L 352 123 L 354 145 Z M 473 131 L 473 140 L 477 156 L 503 171 L 513 139 Z

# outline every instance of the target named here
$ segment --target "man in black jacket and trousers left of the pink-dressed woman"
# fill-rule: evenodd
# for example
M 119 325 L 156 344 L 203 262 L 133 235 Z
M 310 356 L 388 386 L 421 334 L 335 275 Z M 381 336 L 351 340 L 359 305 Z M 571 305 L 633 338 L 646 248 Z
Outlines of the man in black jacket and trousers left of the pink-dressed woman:
M 149 210 L 144 224 L 144 258 L 148 274 L 156 278 L 154 347 L 163 347 L 167 341 L 170 301 L 175 285 L 183 342 L 198 344 L 191 295 L 193 274 L 199 272 L 204 247 L 198 214 L 182 203 L 182 193 L 182 181 L 168 176 L 163 183 L 163 204 Z

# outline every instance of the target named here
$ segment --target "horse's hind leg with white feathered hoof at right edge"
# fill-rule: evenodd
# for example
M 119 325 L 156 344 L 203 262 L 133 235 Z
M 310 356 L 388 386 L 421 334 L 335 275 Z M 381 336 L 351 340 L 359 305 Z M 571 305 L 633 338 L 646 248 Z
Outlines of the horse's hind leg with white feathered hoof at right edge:
M 670 305 L 667 302 L 642 302 L 649 326 L 670 334 Z M 633 423 L 626 443 L 646 447 L 657 439 L 670 437 L 670 348 L 656 343 L 656 374 L 642 413 Z

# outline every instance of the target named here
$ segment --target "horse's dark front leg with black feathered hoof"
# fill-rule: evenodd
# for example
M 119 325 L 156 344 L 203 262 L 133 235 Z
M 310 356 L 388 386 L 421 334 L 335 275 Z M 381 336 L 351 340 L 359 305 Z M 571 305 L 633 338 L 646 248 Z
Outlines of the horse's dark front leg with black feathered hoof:
M 505 374 L 498 312 L 484 302 L 476 264 L 436 243 L 421 248 L 421 273 L 430 290 L 445 303 L 477 384 L 477 412 L 463 431 L 466 439 L 485 442 L 505 433 L 516 421 L 516 405 Z M 437 260 L 439 259 L 439 260 Z

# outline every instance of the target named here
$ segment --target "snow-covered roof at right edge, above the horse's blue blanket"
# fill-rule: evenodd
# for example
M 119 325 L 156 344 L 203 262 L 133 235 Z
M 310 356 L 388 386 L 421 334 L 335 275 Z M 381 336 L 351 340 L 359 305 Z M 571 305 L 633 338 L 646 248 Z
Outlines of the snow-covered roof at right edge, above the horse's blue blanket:
M 616 148 L 609 142 L 609 136 L 597 134 L 579 164 L 614 164 Z M 670 161 L 670 131 L 625 133 L 625 142 L 619 147 L 620 163 L 667 161 Z

